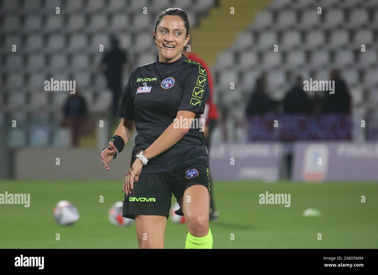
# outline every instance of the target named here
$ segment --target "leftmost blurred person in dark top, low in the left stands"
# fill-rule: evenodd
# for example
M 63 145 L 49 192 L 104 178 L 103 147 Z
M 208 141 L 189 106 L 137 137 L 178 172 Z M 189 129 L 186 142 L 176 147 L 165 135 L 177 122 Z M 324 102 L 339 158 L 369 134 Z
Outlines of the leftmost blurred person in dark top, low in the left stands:
M 84 133 L 87 124 L 88 109 L 84 97 L 79 95 L 79 89 L 76 87 L 76 93 L 71 94 L 64 104 L 64 119 L 62 127 L 71 128 L 73 146 L 78 145 L 79 137 Z

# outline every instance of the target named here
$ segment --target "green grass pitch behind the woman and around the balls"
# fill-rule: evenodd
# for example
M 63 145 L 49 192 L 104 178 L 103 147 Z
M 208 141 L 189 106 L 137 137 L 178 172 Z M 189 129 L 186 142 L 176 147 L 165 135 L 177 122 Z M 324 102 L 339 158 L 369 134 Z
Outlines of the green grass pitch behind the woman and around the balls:
M 123 200 L 121 189 L 121 181 L 0 181 L 2 194 L 30 193 L 28 208 L 0 204 L 0 248 L 138 248 L 135 224 L 108 221 L 110 206 Z M 220 212 L 219 221 L 210 223 L 214 248 L 378 248 L 378 183 L 217 181 L 214 191 Z M 259 204 L 266 191 L 290 193 L 291 206 Z M 73 226 L 54 222 L 60 200 L 78 208 Z M 321 215 L 303 217 L 307 208 Z M 168 220 L 165 248 L 184 248 L 186 234 L 185 224 Z

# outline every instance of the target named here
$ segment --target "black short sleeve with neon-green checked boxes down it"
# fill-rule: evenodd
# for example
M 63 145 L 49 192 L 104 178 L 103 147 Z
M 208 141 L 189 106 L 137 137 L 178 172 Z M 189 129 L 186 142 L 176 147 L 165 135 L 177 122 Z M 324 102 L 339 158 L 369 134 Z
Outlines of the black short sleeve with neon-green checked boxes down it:
M 210 92 L 206 70 L 201 65 L 190 65 L 187 73 L 183 74 L 182 81 L 183 97 L 178 111 L 192 111 L 203 114 Z

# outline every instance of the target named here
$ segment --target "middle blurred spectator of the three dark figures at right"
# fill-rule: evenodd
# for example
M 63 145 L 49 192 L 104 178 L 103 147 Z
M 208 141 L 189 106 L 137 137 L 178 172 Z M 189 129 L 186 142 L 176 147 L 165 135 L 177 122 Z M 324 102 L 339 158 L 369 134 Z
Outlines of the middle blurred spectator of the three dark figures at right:
M 283 100 L 283 112 L 285 114 L 304 114 L 311 112 L 311 100 L 303 91 L 303 81 L 301 76 L 295 79 L 294 87 L 291 88 Z

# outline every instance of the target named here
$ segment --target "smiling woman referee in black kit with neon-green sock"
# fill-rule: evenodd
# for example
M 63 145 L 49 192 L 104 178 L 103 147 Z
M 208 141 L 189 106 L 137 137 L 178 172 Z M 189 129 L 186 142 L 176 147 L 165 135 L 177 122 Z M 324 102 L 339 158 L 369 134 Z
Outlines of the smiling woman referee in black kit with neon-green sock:
M 121 123 L 101 152 L 101 161 L 109 171 L 109 161 L 136 129 L 123 186 L 123 216 L 135 219 L 139 248 L 164 247 L 173 193 L 180 204 L 176 214 L 185 215 L 189 230 L 185 248 L 211 249 L 208 153 L 201 128 L 191 124 L 203 114 L 209 97 L 207 73 L 181 54 L 190 39 L 182 9 L 163 11 L 153 38 L 158 58 L 130 75 L 118 109 Z

